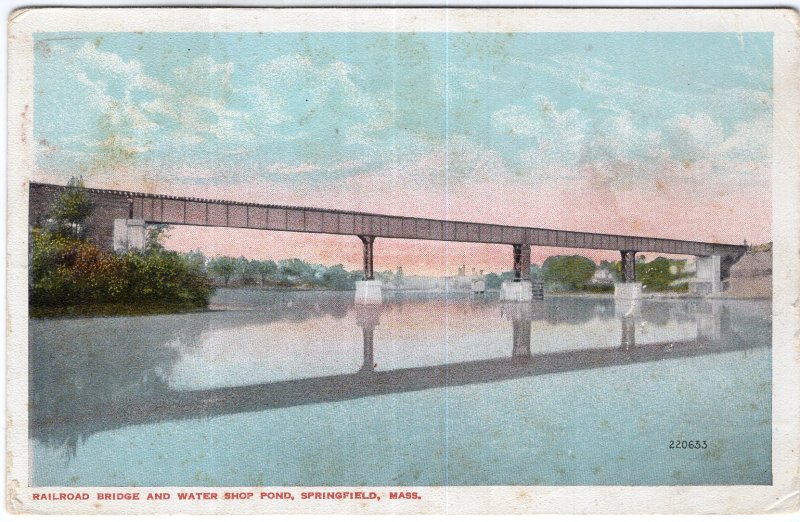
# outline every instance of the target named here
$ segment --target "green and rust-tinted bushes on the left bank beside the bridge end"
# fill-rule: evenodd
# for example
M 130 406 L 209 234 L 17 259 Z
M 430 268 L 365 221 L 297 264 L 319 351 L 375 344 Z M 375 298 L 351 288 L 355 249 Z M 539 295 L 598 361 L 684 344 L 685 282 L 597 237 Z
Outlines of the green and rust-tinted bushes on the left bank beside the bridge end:
M 160 242 L 166 227 L 148 229 L 143 252 L 115 254 L 82 239 L 92 211 L 82 187 L 80 180 L 71 180 L 50 209 L 53 226 L 31 231 L 32 308 L 118 305 L 130 313 L 139 305 L 176 310 L 208 304 L 211 284 L 202 260 L 166 251 Z

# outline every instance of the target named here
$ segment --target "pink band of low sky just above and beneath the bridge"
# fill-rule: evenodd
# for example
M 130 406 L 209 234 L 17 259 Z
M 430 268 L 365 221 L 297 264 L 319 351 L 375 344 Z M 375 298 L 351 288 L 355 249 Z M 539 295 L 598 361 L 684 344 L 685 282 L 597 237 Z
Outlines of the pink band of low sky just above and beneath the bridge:
M 733 167 L 737 171 L 754 168 Z M 548 182 L 536 186 L 524 179 L 500 184 L 485 176 L 473 177 L 468 183 L 459 183 L 456 179 L 445 187 L 441 181 L 443 176 L 437 177 L 434 173 L 438 169 L 420 168 L 419 162 L 411 172 L 384 169 L 351 177 L 346 184 L 328 182 L 322 186 L 318 182 L 306 184 L 302 177 L 293 187 L 248 179 L 229 185 L 167 185 L 158 181 L 163 179 L 159 173 L 143 171 L 95 176 L 87 179 L 86 184 L 587 232 L 737 244 L 744 239 L 751 244 L 771 241 L 769 192 L 743 185 L 735 178 L 726 186 L 720 183 L 719 177 L 705 176 L 703 169 L 702 165 L 690 169 L 667 166 L 663 175 L 629 186 L 607 174 L 584 169 L 571 179 L 554 175 Z M 193 174 L 202 176 L 196 170 Z M 763 180 L 764 173 L 759 174 Z M 55 181 L 46 175 L 39 178 Z M 414 183 L 414 180 L 420 182 Z M 473 267 L 487 271 L 511 268 L 510 246 L 383 238 L 378 238 L 375 245 L 375 268 L 379 271 L 402 266 L 408 274 L 433 275 L 453 274 L 461 265 L 466 265 L 468 271 Z M 341 263 L 350 269 L 361 266 L 361 243 L 358 238 L 349 236 L 173 227 L 166 246 L 179 251 L 200 249 L 208 256 L 275 260 L 297 257 L 326 265 Z M 541 263 L 554 254 L 581 254 L 596 261 L 617 260 L 619 256 L 613 251 L 534 247 L 532 260 Z

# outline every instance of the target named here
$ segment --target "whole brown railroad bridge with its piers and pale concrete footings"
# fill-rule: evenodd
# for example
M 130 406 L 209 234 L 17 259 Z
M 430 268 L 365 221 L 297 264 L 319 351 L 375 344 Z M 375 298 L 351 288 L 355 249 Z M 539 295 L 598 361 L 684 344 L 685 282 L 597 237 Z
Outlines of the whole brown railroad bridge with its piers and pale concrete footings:
M 31 183 L 29 222 L 46 217 L 52 203 L 67 187 Z M 615 285 L 619 299 L 641 297 L 636 282 L 636 253 L 653 252 L 697 256 L 696 285 L 704 294 L 722 290 L 730 267 L 747 250 L 746 245 L 686 241 L 655 237 L 599 234 L 572 230 L 496 225 L 393 216 L 345 210 L 292 207 L 202 199 L 192 197 L 84 188 L 94 211 L 87 220 L 89 237 L 106 249 L 142 248 L 149 224 L 251 228 L 316 234 L 357 236 L 362 243 L 364 279 L 359 281 L 356 300 L 381 300 L 381 284 L 374 278 L 373 252 L 379 238 L 421 239 L 509 245 L 515 279 L 504 283 L 502 296 L 508 301 L 533 299 L 530 280 L 531 247 L 563 247 L 620 252 L 624 282 Z

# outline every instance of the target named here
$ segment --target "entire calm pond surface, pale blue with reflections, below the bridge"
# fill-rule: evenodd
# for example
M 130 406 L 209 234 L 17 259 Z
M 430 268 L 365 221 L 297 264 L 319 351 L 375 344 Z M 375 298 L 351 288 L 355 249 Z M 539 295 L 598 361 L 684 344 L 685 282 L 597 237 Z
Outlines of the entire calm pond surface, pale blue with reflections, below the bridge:
M 33 485 L 771 482 L 768 301 L 352 301 L 31 320 Z

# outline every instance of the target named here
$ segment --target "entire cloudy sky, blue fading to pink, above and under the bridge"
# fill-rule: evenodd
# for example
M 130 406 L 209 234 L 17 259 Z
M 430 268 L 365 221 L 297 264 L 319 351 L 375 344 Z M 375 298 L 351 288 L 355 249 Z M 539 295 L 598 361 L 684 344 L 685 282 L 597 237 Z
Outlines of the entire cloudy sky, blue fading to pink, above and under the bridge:
M 770 33 L 40 33 L 38 181 L 700 241 L 771 240 Z M 340 236 L 175 227 L 360 265 Z M 533 260 L 581 251 L 534 247 Z M 616 259 L 615 252 L 589 252 Z M 511 247 L 379 239 L 376 269 Z

